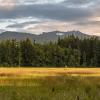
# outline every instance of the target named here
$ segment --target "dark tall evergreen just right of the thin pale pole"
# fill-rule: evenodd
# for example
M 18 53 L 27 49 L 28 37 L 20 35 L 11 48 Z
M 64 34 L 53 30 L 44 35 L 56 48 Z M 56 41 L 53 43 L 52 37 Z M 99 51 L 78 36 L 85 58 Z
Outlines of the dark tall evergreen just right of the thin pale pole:
M 33 44 L 29 39 L 20 42 L 21 66 L 32 66 Z

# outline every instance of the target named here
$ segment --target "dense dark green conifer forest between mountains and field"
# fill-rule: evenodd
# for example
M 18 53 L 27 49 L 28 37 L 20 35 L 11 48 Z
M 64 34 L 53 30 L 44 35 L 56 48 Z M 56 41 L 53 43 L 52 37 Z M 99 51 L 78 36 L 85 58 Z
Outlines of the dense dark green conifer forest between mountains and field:
M 0 42 L 0 66 L 9 67 L 99 67 L 100 40 L 73 35 L 57 42 L 39 44 L 29 39 Z

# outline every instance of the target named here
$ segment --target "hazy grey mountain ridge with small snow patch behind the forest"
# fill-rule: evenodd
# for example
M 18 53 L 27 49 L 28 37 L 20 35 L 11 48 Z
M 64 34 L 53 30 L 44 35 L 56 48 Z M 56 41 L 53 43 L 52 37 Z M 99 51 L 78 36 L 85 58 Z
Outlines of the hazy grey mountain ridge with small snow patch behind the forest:
M 57 41 L 58 37 L 64 38 L 69 35 L 74 35 L 75 37 L 79 37 L 81 39 L 91 37 L 91 35 L 84 34 L 80 31 L 68 31 L 68 32 L 52 31 L 52 32 L 43 32 L 40 35 L 6 31 L 0 34 L 0 40 L 16 39 L 17 41 L 20 41 L 29 38 L 31 41 L 35 40 L 38 43 L 43 43 L 49 41 Z

